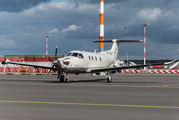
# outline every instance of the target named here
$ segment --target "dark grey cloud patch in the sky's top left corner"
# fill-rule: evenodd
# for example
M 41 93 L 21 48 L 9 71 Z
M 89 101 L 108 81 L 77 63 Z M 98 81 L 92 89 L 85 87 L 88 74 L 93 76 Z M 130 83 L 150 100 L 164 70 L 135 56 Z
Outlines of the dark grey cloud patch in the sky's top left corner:
M 0 0 L 0 11 L 21 12 L 24 9 L 37 6 L 39 3 L 50 1 L 51 0 Z

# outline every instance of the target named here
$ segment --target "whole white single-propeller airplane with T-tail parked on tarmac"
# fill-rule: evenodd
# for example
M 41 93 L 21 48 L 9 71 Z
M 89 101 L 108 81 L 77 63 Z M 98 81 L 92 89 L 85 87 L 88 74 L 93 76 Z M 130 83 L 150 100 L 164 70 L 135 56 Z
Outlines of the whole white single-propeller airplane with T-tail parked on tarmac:
M 153 66 L 153 65 L 164 65 L 170 64 L 167 63 L 157 63 L 157 64 L 148 64 L 148 65 L 135 65 L 135 66 L 123 66 L 123 67 L 113 67 L 116 62 L 118 54 L 119 43 L 128 43 L 128 42 L 143 42 L 142 40 L 107 40 L 107 41 L 93 41 L 95 43 L 104 42 L 104 43 L 113 43 L 111 50 L 103 52 L 84 52 L 84 51 L 70 51 L 67 56 L 57 59 L 57 47 L 55 49 L 55 60 L 52 62 L 52 66 L 40 66 L 32 64 L 24 64 L 19 62 L 10 62 L 8 59 L 2 61 L 2 64 L 15 64 L 22 66 L 30 66 L 34 68 L 45 68 L 49 69 L 48 74 L 51 70 L 58 71 L 57 79 L 60 82 L 69 82 L 68 74 L 80 74 L 80 73 L 96 73 L 100 75 L 100 72 L 105 72 L 107 82 L 111 82 L 111 71 L 128 69 L 128 68 L 139 68 L 144 66 Z M 173 62 L 173 61 L 172 61 Z

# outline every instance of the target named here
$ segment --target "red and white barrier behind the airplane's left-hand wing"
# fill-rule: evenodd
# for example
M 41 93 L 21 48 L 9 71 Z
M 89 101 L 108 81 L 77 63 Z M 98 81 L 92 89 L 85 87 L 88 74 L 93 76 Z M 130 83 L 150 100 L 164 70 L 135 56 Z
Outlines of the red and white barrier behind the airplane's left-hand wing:
M 61 56 L 63 57 L 63 56 Z M 61 58 L 58 57 L 58 58 Z M 44 58 L 43 56 L 13 56 L 13 57 L 0 57 L 0 62 L 9 59 L 12 62 L 21 62 L 25 64 L 34 64 L 34 65 L 44 65 L 44 66 L 52 66 L 51 61 L 55 60 L 55 57 L 53 56 L 46 56 Z M 0 63 L 0 72 L 4 73 L 47 73 L 48 69 L 43 68 L 33 68 L 33 67 L 27 67 L 27 66 L 20 66 L 20 65 L 12 65 L 12 64 L 6 64 L 2 65 Z M 50 73 L 56 73 L 51 71 Z

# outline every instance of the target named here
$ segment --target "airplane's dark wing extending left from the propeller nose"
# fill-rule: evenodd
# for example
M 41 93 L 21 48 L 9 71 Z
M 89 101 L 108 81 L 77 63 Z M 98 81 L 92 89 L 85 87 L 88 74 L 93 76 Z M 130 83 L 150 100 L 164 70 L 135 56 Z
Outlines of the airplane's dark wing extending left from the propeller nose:
M 10 62 L 9 60 L 7 61 L 2 61 L 2 64 L 14 64 L 14 65 L 23 65 L 23 66 L 29 66 L 29 67 L 34 67 L 34 68 L 45 68 L 45 69 L 52 69 L 52 70 L 57 70 L 56 68 L 52 68 L 50 66 L 41 66 L 41 65 L 34 65 L 34 64 L 24 64 L 24 63 L 19 63 L 19 62 Z

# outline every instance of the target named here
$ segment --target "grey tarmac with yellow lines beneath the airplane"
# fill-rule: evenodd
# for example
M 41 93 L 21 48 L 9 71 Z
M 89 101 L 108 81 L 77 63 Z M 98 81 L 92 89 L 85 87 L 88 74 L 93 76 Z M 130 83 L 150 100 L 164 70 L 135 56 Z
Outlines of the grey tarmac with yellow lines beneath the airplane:
M 1 120 L 178 120 L 179 74 L 0 75 Z

